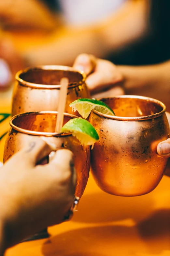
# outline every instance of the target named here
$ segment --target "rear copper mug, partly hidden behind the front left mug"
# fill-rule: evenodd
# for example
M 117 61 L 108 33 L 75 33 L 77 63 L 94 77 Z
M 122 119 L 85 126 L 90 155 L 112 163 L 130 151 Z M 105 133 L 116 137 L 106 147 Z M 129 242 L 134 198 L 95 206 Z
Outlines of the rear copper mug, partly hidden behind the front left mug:
M 12 116 L 32 111 L 57 111 L 62 77 L 69 79 L 65 112 L 71 114 L 71 102 L 90 97 L 85 83 L 86 75 L 72 67 L 52 65 L 26 68 L 16 74 Z M 77 111 L 73 113 L 78 115 Z

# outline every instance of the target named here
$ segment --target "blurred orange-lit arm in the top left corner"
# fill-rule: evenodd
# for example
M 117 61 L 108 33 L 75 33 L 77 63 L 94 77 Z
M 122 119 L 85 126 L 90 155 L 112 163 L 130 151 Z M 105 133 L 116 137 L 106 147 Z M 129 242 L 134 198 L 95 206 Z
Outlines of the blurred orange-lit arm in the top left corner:
M 0 1 L 0 24 L 5 29 L 53 30 L 57 15 L 54 17 L 43 1 L 6 0 Z

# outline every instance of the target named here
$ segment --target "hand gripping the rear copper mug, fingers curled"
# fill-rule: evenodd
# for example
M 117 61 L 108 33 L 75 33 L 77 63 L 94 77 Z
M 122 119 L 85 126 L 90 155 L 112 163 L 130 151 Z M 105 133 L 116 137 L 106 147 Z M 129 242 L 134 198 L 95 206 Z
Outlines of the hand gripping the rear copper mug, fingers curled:
M 86 83 L 93 97 L 98 99 L 124 94 L 121 87 L 123 76 L 112 62 L 93 55 L 80 54 L 73 67 L 88 75 Z

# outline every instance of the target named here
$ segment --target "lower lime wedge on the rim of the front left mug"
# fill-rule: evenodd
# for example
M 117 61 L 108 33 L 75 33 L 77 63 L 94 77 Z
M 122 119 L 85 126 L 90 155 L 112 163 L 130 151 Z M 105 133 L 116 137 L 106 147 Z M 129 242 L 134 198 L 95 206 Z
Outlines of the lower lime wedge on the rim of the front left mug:
M 85 119 L 74 118 L 69 120 L 62 128 L 62 132 L 71 132 L 81 145 L 94 145 L 99 139 L 95 128 Z

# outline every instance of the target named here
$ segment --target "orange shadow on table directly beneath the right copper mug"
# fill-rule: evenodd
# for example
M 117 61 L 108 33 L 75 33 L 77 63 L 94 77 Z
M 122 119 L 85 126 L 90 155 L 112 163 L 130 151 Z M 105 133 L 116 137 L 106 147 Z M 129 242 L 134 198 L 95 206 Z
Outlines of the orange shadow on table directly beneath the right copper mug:
M 122 197 L 109 195 L 103 191 L 83 195 L 74 213 L 73 221 L 101 223 L 131 218 L 140 221 L 153 211 L 151 193 L 144 196 Z

